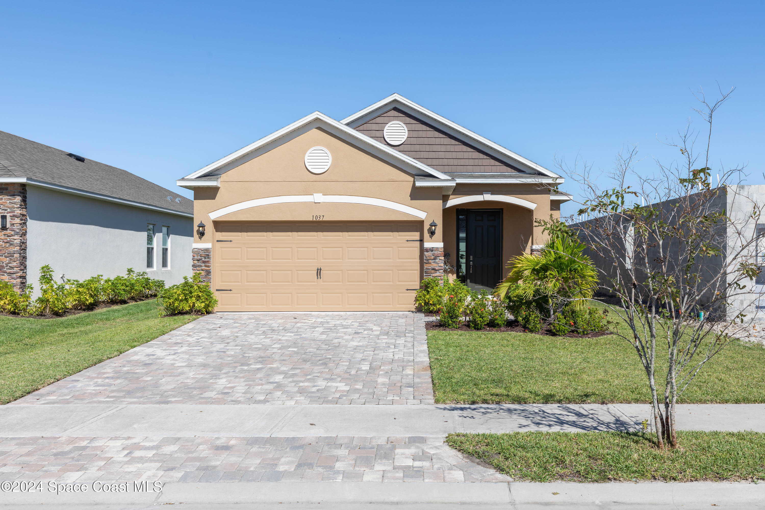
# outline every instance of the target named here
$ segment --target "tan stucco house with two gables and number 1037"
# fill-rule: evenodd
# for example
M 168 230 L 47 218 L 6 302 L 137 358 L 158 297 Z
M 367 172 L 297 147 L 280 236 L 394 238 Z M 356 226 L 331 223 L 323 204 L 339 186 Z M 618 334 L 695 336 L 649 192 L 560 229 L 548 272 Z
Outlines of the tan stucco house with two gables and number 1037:
M 490 289 L 570 197 L 552 171 L 398 94 L 314 112 L 177 181 L 220 311 L 412 310 L 424 277 Z

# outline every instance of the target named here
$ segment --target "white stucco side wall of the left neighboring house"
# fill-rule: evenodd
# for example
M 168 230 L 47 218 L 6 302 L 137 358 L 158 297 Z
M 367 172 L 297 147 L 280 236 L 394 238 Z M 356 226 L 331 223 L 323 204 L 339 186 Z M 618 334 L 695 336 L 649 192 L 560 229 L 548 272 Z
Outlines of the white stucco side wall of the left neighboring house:
M 39 291 L 40 268 L 60 281 L 111 278 L 127 268 L 148 271 L 165 285 L 191 275 L 194 221 L 190 217 L 93 200 L 41 187 L 27 188 L 28 283 Z M 155 269 L 146 268 L 146 225 L 155 225 Z M 161 268 L 162 226 L 170 227 L 170 268 Z

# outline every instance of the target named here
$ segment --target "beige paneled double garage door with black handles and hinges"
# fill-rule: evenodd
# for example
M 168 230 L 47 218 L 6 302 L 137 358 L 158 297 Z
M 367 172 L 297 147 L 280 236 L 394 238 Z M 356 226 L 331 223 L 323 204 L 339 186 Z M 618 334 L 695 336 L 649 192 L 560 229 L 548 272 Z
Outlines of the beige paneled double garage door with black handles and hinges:
M 412 310 L 422 223 L 216 223 L 220 311 Z

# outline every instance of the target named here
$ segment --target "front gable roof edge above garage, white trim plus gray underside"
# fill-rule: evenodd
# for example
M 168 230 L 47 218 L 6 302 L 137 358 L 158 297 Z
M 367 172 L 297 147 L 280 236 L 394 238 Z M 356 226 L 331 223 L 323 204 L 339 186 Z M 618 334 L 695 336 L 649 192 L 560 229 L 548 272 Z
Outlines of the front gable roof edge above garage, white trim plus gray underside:
M 258 141 L 254 141 L 252 144 L 240 148 L 239 151 L 232 152 L 225 158 L 220 158 L 218 161 L 200 168 L 200 170 L 197 170 L 193 174 L 189 174 L 183 179 L 178 180 L 177 185 L 181 187 L 197 187 L 199 185 L 197 183 L 201 183 L 201 180 L 199 180 L 200 177 L 212 177 L 215 174 L 222 174 L 234 167 L 238 167 L 245 161 L 249 161 L 249 159 L 256 158 L 260 154 L 264 154 L 265 152 L 278 147 L 278 145 L 282 145 L 317 127 L 321 127 L 327 132 L 330 132 L 353 145 L 364 148 L 366 151 L 375 154 L 377 157 L 382 158 L 411 174 L 425 173 L 437 177 L 438 179 L 449 180 L 448 176 L 436 171 L 434 168 L 428 167 L 428 165 L 421 161 L 417 161 L 406 154 L 396 151 L 396 149 L 381 144 L 379 141 L 373 140 L 373 138 L 369 138 L 363 133 L 357 132 L 355 129 L 337 122 L 335 119 L 332 119 L 321 112 L 313 112 L 311 115 L 306 115 L 302 119 L 292 122 L 290 125 L 273 132 L 271 135 L 260 138 Z M 210 181 L 207 180 L 205 185 L 210 186 Z

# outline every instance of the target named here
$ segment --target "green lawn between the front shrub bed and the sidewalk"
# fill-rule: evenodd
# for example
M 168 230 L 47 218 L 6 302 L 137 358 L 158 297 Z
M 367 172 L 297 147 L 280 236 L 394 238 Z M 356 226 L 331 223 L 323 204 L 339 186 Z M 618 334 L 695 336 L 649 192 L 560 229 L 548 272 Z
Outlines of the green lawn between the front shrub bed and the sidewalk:
M 650 402 L 637 354 L 617 336 L 429 331 L 428 349 L 439 404 Z M 680 402 L 765 402 L 765 349 L 731 343 Z

